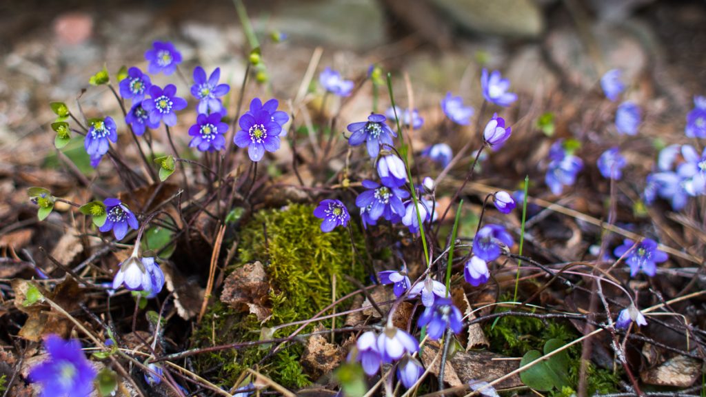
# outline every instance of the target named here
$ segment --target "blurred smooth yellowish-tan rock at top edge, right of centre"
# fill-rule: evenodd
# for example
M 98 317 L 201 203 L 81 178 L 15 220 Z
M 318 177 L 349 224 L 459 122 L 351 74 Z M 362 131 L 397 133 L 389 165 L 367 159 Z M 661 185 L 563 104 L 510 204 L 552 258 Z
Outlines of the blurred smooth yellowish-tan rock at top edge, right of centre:
M 486 35 L 539 37 L 542 9 L 533 0 L 430 0 L 461 28 Z

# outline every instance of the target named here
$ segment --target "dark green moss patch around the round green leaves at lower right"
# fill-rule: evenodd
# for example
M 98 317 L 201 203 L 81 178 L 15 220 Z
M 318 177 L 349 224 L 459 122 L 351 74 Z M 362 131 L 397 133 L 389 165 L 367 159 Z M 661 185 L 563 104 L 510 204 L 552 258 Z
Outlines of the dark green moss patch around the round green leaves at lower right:
M 498 309 L 504 312 L 507 309 Z M 559 339 L 569 343 L 580 337 L 574 329 L 561 321 L 552 319 L 542 321 L 532 317 L 507 316 L 501 317 L 494 324 L 488 324 L 484 329 L 488 336 L 491 350 L 503 355 L 522 357 L 530 350 L 542 351 L 544 343 L 549 339 Z M 554 390 L 549 393 L 552 397 L 568 397 L 576 394 L 575 389 L 579 384 L 581 367 L 581 345 L 568 348 L 570 366 L 568 368 L 569 381 L 572 387 L 563 390 Z M 597 368 L 593 364 L 587 365 L 587 393 L 616 393 L 620 386 L 621 373 L 614 373 L 609 369 Z

